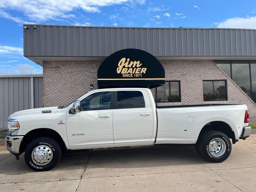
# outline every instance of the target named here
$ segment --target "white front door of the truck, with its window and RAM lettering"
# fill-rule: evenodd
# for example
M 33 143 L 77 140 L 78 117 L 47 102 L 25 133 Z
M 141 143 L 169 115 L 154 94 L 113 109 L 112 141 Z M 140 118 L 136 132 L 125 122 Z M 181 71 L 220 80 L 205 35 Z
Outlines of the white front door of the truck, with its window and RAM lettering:
M 70 148 L 114 143 L 113 94 L 111 91 L 94 92 L 80 101 L 80 112 L 67 113 Z

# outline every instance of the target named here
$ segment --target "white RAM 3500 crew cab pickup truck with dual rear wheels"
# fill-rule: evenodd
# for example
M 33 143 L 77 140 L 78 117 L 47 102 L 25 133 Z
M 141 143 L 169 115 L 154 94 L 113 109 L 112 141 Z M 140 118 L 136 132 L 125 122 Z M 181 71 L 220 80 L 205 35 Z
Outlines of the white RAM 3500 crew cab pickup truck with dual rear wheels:
M 222 162 L 251 134 L 246 105 L 157 107 L 146 88 L 99 89 L 65 107 L 35 108 L 8 119 L 6 148 L 33 170 L 47 171 L 76 149 L 188 144 Z M 230 138 L 230 139 L 229 139 Z

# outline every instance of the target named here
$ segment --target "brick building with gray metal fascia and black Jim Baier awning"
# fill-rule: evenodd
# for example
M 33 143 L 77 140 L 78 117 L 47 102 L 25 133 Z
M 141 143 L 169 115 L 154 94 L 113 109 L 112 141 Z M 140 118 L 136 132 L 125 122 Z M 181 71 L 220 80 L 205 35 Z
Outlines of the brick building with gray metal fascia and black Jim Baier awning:
M 246 104 L 256 123 L 254 29 L 24 26 L 24 56 L 43 66 L 44 107 L 92 87 L 141 86 L 158 106 Z

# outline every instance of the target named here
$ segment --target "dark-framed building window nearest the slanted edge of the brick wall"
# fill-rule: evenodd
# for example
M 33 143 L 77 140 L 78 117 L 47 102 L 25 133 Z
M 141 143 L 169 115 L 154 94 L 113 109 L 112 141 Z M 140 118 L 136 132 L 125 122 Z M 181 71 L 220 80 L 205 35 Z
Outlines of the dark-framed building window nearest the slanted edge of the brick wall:
M 204 101 L 222 101 L 227 98 L 226 80 L 203 80 Z

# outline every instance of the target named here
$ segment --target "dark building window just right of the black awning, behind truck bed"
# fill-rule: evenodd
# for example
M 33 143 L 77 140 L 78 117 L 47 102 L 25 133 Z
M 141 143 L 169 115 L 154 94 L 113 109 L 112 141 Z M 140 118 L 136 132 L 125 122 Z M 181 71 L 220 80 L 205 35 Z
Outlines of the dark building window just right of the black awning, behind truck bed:
M 166 81 L 156 88 L 157 102 L 180 102 L 180 81 Z

